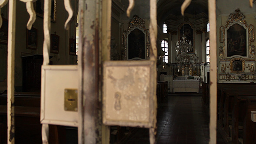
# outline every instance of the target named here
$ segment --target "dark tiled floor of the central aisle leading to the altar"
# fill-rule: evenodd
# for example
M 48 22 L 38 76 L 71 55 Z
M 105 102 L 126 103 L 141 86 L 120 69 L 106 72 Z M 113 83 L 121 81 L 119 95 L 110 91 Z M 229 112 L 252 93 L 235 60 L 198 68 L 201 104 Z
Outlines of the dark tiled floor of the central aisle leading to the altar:
M 201 94 L 169 94 L 158 105 L 157 144 L 208 144 L 209 108 Z M 138 128 L 124 144 L 149 144 L 148 129 Z M 217 132 L 217 144 L 224 144 Z

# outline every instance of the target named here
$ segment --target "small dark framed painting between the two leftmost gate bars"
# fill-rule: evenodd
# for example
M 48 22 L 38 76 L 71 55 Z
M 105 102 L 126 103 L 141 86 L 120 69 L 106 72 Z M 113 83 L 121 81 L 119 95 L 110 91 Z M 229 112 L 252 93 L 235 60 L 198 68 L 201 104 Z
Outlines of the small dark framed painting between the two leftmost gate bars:
M 30 30 L 26 29 L 26 48 L 27 49 L 37 49 L 37 37 L 38 30 L 35 28 L 31 28 Z

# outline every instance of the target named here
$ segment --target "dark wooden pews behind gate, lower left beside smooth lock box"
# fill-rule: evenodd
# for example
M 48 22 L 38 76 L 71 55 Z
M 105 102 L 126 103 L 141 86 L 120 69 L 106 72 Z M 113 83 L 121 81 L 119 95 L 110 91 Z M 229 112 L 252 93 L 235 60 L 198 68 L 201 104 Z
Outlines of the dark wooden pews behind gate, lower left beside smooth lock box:
M 42 144 L 40 94 L 20 92 L 14 95 L 15 142 Z M 7 95 L 0 95 L 0 144 L 7 143 Z M 49 125 L 49 143 L 66 143 L 64 126 Z

